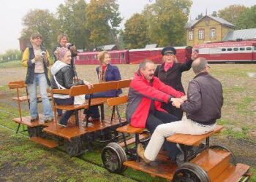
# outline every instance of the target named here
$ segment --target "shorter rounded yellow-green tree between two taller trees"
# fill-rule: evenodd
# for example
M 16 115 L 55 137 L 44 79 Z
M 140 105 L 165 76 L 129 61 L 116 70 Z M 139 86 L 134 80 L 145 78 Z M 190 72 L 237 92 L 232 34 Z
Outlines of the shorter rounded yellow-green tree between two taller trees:
M 144 15 L 136 13 L 124 24 L 124 44 L 129 49 L 145 47 L 148 44 L 148 24 Z

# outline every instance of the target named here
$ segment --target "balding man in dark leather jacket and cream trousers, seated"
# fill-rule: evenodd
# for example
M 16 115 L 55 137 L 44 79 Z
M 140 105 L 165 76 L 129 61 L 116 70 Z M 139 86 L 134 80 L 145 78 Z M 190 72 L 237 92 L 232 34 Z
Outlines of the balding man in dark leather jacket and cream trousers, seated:
M 217 119 L 221 117 L 222 84 L 208 74 L 210 66 L 205 58 L 194 60 L 192 68 L 196 76 L 189 82 L 187 101 L 173 98 L 173 106 L 185 111 L 187 117 L 178 122 L 160 124 L 154 130 L 145 153 L 143 146 L 138 145 L 138 155 L 146 163 L 156 159 L 167 136 L 174 133 L 201 135 L 210 132 L 214 130 Z

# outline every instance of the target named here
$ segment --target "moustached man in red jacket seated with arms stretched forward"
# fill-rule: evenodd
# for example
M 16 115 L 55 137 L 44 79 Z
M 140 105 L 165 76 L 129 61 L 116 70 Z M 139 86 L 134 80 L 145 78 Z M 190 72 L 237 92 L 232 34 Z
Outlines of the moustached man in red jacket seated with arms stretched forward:
M 183 92 L 162 83 L 154 76 L 155 65 L 151 60 L 143 60 L 138 72 L 129 85 L 127 121 L 133 127 L 147 128 L 154 132 L 159 124 L 177 121 L 178 118 L 161 108 L 161 103 L 170 103 L 173 98 L 181 98 Z M 181 98 L 182 99 L 182 98 Z M 166 143 L 165 149 L 175 161 L 179 150 L 176 145 Z

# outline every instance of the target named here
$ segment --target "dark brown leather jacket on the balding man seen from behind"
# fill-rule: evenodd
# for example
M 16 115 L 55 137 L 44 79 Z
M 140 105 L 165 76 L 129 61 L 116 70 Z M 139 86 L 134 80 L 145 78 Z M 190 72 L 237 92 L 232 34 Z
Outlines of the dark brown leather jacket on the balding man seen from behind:
M 187 113 L 188 119 L 208 125 L 221 117 L 222 105 L 222 84 L 207 72 L 202 72 L 189 82 L 187 102 L 181 104 L 181 109 Z

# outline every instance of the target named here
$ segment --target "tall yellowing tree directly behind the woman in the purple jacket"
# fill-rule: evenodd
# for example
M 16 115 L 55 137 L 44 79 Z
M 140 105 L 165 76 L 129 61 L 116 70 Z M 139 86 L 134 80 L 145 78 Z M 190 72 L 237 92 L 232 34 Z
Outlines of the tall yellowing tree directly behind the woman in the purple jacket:
M 89 39 L 97 48 L 104 44 L 117 42 L 118 26 L 121 23 L 116 0 L 91 0 L 86 7 L 86 27 Z

